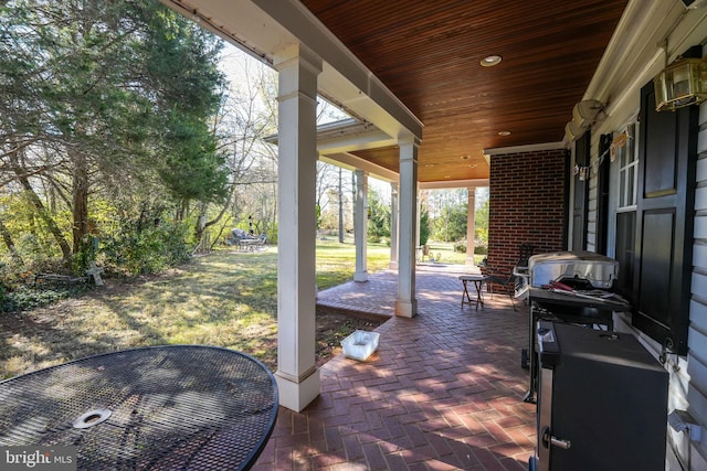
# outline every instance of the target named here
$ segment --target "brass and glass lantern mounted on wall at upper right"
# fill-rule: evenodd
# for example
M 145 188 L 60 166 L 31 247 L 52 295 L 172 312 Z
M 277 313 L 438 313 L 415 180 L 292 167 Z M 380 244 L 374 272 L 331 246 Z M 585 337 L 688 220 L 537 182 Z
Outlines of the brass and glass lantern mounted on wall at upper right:
M 707 99 L 707 63 L 704 58 L 678 58 L 653 78 L 655 109 L 675 110 Z

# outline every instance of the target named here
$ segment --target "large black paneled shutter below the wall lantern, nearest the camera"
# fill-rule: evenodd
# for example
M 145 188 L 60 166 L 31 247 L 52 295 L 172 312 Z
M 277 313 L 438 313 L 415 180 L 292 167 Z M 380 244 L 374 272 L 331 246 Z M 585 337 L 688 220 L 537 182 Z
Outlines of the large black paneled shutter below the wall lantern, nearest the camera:
M 696 106 L 655 110 L 641 89 L 633 324 L 687 354 L 697 162 Z

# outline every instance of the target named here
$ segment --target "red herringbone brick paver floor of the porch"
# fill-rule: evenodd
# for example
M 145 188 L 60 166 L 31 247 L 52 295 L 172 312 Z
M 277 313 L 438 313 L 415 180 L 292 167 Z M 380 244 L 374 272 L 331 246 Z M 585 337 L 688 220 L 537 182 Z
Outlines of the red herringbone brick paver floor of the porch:
M 420 266 L 419 314 L 377 329 L 366 362 L 339 355 L 320 368 L 321 394 L 282 408 L 255 470 L 527 470 L 535 411 L 523 402 L 528 309 L 485 295 L 461 307 L 461 266 Z M 397 274 L 323 291 L 318 303 L 391 315 Z

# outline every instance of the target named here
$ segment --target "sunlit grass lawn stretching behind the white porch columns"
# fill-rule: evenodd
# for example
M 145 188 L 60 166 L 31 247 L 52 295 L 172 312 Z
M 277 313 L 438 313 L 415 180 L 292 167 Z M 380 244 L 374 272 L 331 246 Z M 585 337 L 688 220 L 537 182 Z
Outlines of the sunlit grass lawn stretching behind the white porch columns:
M 451 244 L 431 244 L 442 263 L 464 261 Z M 317 240 L 320 290 L 349 281 L 351 242 Z M 367 246 L 368 271 L 387 269 L 390 249 Z M 250 353 L 268 366 L 277 357 L 277 249 L 240 253 L 224 247 L 159 276 L 105 278 L 80 297 L 0 314 L 0 378 L 97 353 L 160 344 L 208 344 Z M 318 355 L 336 353 L 357 328 L 350 318 L 317 314 Z M 327 350 L 328 349 L 328 350 Z M 325 353 L 320 353 L 326 351 Z

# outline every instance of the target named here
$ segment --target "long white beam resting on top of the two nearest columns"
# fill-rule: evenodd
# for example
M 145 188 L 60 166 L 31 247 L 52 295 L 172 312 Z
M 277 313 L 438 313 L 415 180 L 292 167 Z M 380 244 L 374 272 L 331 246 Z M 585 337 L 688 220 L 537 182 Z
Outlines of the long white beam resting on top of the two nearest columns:
M 391 138 L 422 139 L 422 122 L 296 0 L 160 0 L 266 64 L 300 44 L 324 61 L 319 93 Z

